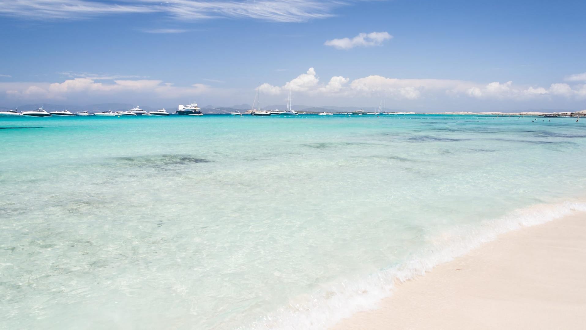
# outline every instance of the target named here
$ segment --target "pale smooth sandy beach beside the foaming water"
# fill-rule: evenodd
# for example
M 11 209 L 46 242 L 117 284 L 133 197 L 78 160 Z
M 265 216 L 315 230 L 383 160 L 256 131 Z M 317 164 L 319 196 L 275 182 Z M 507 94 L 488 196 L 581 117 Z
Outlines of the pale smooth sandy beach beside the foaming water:
M 586 212 L 576 211 L 500 234 L 331 329 L 581 329 L 585 260 Z

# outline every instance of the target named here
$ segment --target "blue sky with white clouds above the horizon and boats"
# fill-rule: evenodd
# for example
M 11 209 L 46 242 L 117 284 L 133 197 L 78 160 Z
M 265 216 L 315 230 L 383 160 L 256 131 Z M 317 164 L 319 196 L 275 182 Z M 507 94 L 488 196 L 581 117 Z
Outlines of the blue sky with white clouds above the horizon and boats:
M 586 1 L 0 0 L 0 107 L 586 109 Z

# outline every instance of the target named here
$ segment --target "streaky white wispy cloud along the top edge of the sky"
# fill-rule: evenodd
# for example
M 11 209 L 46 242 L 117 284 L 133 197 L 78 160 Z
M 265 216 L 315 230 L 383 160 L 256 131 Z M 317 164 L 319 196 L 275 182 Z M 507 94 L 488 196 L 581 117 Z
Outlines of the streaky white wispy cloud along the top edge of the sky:
M 193 21 L 253 18 L 269 22 L 305 22 L 333 16 L 335 8 L 354 0 L 19 0 L 0 1 L 0 15 L 29 19 L 83 19 L 124 13 L 163 13 Z

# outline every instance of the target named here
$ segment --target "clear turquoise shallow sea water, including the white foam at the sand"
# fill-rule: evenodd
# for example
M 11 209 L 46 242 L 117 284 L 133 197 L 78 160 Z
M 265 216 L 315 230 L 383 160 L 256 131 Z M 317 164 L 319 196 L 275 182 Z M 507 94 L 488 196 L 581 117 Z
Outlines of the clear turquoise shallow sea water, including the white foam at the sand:
M 0 327 L 325 328 L 585 209 L 586 122 L 532 120 L 0 118 Z

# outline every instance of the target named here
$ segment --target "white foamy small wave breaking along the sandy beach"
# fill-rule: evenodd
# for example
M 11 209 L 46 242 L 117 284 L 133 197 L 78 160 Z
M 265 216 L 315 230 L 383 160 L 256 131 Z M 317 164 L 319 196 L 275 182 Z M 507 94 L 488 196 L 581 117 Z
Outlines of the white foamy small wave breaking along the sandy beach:
M 330 328 L 356 312 L 376 308 L 381 299 L 392 294 L 395 283 L 424 275 L 438 264 L 495 240 L 499 234 L 560 219 L 577 211 L 586 211 L 586 202 L 534 205 L 475 226 L 459 226 L 427 237 L 425 250 L 418 251 L 411 260 L 399 266 L 381 269 L 365 277 L 323 284 L 312 294 L 295 297 L 287 306 L 239 329 Z

